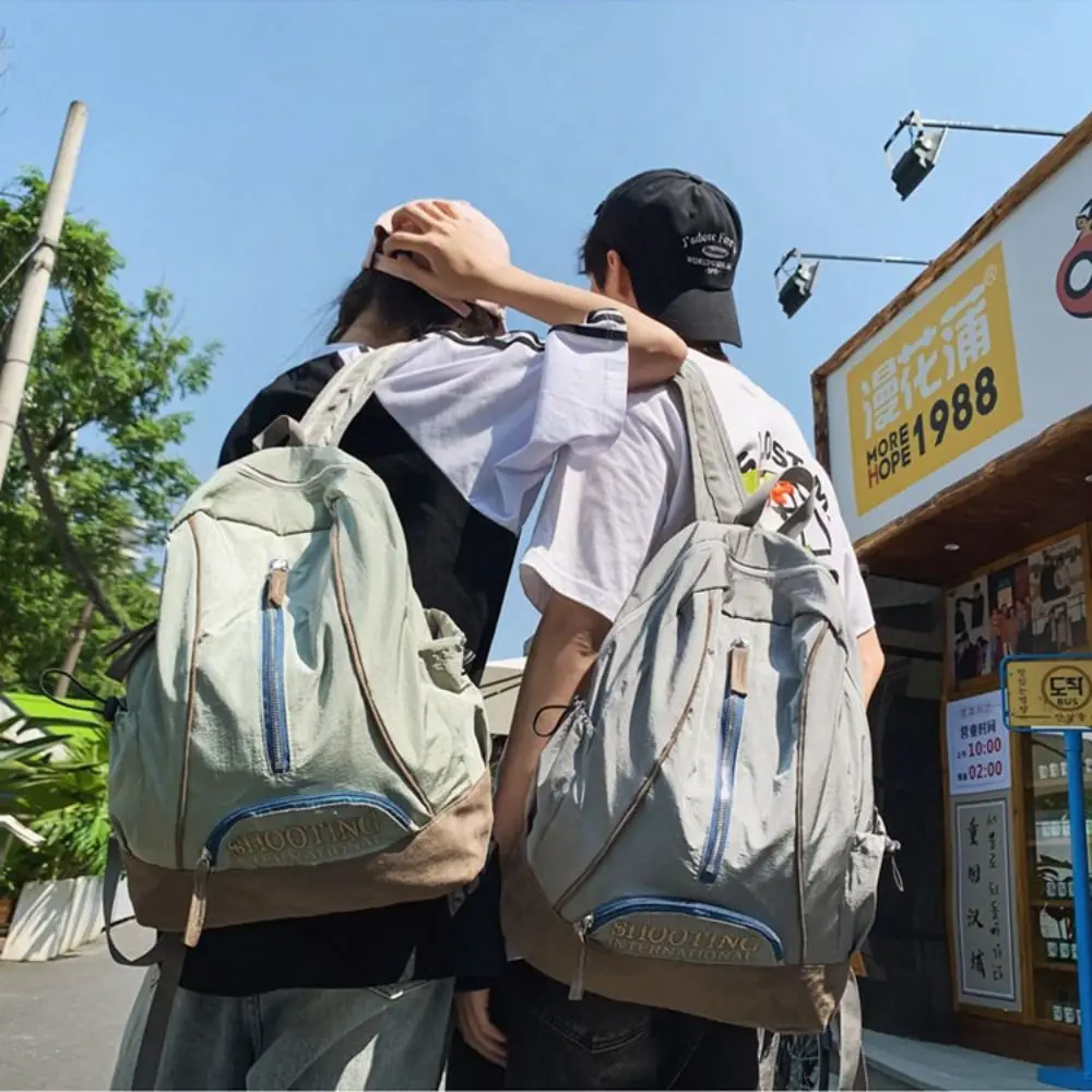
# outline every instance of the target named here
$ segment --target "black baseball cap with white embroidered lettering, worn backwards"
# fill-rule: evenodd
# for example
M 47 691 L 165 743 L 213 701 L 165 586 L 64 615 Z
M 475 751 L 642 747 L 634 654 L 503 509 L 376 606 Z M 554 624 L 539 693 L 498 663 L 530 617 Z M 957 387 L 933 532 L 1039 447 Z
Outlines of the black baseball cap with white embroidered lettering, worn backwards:
M 645 170 L 607 194 L 591 234 L 618 251 L 645 314 L 687 341 L 743 344 L 732 285 L 744 228 L 712 182 Z

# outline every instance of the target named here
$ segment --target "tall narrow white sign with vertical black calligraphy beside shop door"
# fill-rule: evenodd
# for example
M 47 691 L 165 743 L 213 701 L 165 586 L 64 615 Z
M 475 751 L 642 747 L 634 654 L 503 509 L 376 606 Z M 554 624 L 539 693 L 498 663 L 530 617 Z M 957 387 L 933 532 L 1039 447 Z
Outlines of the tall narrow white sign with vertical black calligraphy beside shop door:
M 956 805 L 960 999 L 1018 1008 L 1009 883 L 1008 805 Z

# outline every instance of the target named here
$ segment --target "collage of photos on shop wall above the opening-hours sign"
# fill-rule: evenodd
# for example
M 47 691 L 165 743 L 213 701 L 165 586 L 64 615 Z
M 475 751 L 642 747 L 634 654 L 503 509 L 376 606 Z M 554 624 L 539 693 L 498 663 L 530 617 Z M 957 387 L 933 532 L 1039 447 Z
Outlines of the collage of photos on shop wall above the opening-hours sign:
M 1077 532 L 948 592 L 948 673 L 957 687 L 1008 655 L 1088 646 L 1084 539 Z

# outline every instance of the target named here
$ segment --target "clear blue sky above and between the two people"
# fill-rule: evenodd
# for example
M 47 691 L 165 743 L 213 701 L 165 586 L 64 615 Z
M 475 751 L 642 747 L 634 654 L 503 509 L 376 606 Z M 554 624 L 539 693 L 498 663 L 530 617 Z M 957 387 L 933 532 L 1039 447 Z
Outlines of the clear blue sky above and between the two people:
M 185 449 L 202 475 L 321 340 L 377 212 L 466 197 L 518 262 L 573 280 L 600 199 L 663 166 L 738 204 L 737 363 L 807 429 L 810 371 L 913 271 L 829 265 L 787 322 L 781 254 L 931 258 L 1048 147 L 952 134 L 901 204 L 895 121 L 1064 129 L 1092 108 L 1076 0 L 24 0 L 0 26 L 2 173 L 48 170 L 84 99 L 72 210 L 110 230 L 128 293 L 163 281 L 186 331 L 224 344 Z M 494 655 L 534 624 L 513 586 Z

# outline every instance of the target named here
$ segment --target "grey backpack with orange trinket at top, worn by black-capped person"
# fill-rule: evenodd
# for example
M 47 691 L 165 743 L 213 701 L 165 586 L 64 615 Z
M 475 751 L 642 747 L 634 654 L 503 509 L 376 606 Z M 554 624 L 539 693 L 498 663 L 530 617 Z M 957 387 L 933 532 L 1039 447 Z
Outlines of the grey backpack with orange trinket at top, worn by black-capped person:
M 892 847 L 873 800 L 856 642 L 798 542 L 815 482 L 747 497 L 698 366 L 677 381 L 697 519 L 649 562 L 547 745 L 505 926 L 539 970 L 619 1000 L 822 1030 Z M 848 987 L 848 989 L 847 989 Z

